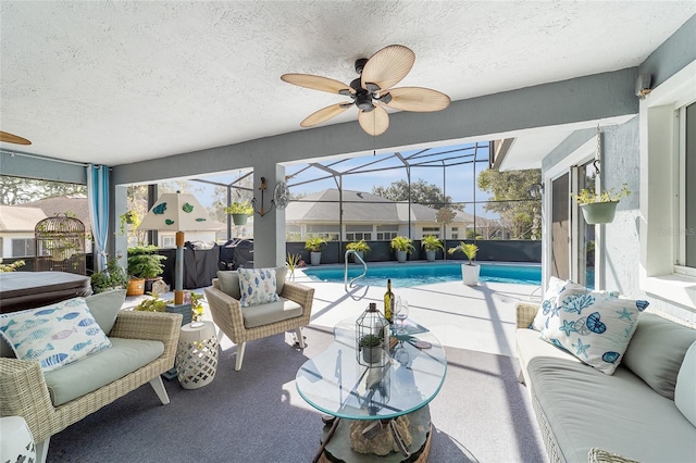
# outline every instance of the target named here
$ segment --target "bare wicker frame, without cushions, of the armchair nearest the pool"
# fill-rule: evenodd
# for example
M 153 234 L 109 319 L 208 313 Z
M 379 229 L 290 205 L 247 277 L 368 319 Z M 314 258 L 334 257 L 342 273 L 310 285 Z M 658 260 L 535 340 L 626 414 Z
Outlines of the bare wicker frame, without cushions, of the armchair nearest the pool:
M 221 339 L 224 333 L 237 345 L 236 371 L 241 370 L 247 341 L 295 329 L 300 348 L 304 348 L 301 327 L 309 325 L 309 320 L 312 314 L 312 301 L 314 300 L 314 288 L 309 288 L 293 281 L 285 281 L 281 297 L 300 304 L 302 306 L 302 314 L 281 322 L 247 328 L 244 324 L 239 301 L 220 289 L 217 278 L 214 278 L 212 283 L 212 287 L 206 288 L 206 300 L 210 306 L 213 322 L 220 329 L 217 339 Z

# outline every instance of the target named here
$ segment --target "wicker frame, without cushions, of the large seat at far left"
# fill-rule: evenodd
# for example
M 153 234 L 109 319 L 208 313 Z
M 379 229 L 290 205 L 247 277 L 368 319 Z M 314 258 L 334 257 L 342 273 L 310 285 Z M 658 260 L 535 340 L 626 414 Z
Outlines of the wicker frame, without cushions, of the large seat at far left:
M 170 402 L 160 375 L 174 366 L 181 314 L 121 311 L 110 338 L 159 340 L 164 352 L 154 361 L 92 392 L 53 406 L 38 362 L 0 358 L 0 416 L 22 416 L 45 461 L 52 435 L 150 383 L 163 404 Z

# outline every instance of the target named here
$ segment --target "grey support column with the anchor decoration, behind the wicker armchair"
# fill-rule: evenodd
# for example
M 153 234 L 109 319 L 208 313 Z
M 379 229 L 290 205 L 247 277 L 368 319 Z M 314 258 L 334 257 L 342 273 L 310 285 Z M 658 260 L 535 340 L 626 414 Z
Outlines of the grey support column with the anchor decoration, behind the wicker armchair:
M 285 263 L 285 211 L 272 203 L 273 190 L 278 182 L 285 180 L 285 167 L 279 164 L 264 163 L 253 166 L 253 197 L 256 209 L 264 215 L 253 213 L 253 266 L 276 267 Z M 265 178 L 266 189 L 261 203 L 261 177 Z

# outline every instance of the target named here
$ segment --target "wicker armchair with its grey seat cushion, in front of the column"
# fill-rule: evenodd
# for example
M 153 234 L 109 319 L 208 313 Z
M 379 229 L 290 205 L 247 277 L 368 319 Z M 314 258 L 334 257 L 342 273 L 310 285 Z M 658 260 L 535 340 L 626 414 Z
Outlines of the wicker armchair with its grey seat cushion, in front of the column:
M 236 274 L 236 272 L 219 272 L 219 278 L 212 280 L 213 286 L 206 288 L 206 299 L 210 306 L 213 322 L 221 331 L 217 338 L 221 339 L 222 334 L 225 334 L 237 345 L 235 370 L 241 370 L 247 341 L 294 329 L 297 334 L 299 347 L 304 348 L 301 327 L 309 325 L 312 315 L 314 288 L 291 281 L 284 281 L 285 276 L 283 274 L 283 276 L 278 278 L 279 299 L 277 302 L 243 308 L 240 301 L 229 295 L 235 293 L 235 291 L 228 291 L 229 293 L 226 293 L 223 291 L 223 289 L 226 288 L 221 288 L 220 277 L 234 274 Z M 234 281 L 232 285 L 234 286 Z M 259 318 L 256 318 L 259 314 L 261 314 L 262 317 L 275 321 L 263 323 Z

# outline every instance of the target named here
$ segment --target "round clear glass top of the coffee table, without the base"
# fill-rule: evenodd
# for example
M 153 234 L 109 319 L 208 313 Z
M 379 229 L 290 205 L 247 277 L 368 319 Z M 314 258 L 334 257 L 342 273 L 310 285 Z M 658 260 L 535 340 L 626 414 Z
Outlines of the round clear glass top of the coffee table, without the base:
M 407 321 L 385 366 L 357 360 L 356 321 L 334 328 L 334 342 L 297 372 L 300 396 L 315 409 L 348 420 L 383 420 L 411 413 L 437 396 L 447 373 L 447 358 L 427 328 Z

